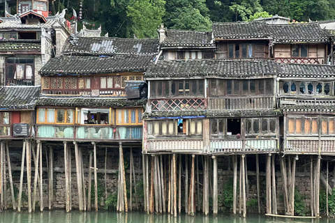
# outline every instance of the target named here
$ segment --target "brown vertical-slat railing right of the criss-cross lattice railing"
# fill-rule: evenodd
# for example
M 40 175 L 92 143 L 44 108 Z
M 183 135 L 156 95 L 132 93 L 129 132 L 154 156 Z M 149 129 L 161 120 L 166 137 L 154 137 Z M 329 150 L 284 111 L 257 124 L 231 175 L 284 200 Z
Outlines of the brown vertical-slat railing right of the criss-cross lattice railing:
M 272 109 L 274 97 L 209 98 L 210 110 Z

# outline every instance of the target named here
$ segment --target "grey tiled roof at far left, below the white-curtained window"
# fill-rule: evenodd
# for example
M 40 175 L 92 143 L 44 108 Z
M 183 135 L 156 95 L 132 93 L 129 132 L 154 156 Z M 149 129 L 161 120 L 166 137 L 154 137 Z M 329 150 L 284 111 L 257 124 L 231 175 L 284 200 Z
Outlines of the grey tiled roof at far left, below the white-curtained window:
M 34 109 L 40 86 L 3 86 L 0 89 L 0 109 Z

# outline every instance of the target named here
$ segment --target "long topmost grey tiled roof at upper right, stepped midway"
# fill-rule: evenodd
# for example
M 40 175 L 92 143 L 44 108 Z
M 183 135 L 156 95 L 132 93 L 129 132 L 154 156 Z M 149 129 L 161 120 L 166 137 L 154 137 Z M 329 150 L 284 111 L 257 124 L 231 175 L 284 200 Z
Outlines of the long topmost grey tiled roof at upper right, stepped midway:
M 274 43 L 327 43 L 332 36 L 317 22 L 267 24 L 266 22 L 214 23 L 214 38 L 272 39 Z

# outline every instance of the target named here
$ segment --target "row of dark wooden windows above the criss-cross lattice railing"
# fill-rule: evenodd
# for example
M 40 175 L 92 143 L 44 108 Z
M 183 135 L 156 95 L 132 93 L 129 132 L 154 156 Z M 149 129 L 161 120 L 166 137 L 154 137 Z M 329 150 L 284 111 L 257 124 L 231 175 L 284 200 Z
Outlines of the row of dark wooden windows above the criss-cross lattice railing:
M 174 96 L 203 96 L 204 80 L 151 81 L 151 98 L 170 98 Z

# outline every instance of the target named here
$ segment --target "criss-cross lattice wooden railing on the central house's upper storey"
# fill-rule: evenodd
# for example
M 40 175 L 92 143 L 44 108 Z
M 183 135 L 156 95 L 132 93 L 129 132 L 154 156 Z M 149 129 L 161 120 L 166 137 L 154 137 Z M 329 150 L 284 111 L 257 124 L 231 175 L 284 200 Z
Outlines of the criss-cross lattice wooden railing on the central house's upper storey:
M 174 98 L 151 100 L 152 111 L 201 111 L 206 109 L 204 98 Z

